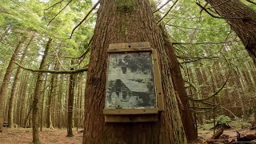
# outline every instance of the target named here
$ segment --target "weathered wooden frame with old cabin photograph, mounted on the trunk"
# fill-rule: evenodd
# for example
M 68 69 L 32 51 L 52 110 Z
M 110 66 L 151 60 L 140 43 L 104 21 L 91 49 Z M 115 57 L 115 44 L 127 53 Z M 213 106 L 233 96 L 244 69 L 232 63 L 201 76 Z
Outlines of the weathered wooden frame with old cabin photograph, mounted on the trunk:
M 105 122 L 155 122 L 164 110 L 156 50 L 149 42 L 115 43 L 107 50 Z

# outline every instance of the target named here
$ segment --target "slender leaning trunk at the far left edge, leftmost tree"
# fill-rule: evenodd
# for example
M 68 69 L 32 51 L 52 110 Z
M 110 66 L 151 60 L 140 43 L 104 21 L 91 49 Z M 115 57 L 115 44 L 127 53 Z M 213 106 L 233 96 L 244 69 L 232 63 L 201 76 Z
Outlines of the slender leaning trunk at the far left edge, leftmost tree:
M 16 46 L 16 49 L 14 50 L 14 54 L 12 55 L 9 65 L 7 67 L 5 77 L 2 80 L 2 86 L 0 89 L 0 132 L 2 132 L 2 123 L 3 123 L 3 118 L 4 118 L 3 113 L 4 113 L 4 109 L 5 109 L 4 102 L 6 101 L 6 90 L 9 85 L 9 82 L 10 82 L 11 73 L 14 69 L 14 62 L 16 61 L 16 57 L 22 48 L 22 44 L 25 41 L 26 41 L 26 37 L 23 36 L 22 39 L 20 40 L 20 42 L 18 42 L 18 45 Z

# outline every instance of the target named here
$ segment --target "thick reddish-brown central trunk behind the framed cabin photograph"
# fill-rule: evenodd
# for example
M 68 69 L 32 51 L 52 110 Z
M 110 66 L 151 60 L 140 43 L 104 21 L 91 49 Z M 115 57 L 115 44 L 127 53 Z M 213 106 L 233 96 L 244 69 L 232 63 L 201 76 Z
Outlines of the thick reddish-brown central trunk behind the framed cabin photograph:
M 186 143 L 164 42 L 148 0 L 101 0 L 86 82 L 83 143 Z M 110 43 L 150 42 L 158 51 L 165 110 L 158 122 L 105 123 L 106 50 Z

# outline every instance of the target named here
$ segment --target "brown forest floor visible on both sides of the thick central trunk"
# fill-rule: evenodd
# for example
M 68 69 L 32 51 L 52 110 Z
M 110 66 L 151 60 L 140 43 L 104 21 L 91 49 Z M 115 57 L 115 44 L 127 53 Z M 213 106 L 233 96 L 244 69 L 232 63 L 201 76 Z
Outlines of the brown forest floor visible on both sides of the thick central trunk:
M 238 127 L 224 130 L 223 134 L 229 136 L 229 139 L 236 139 L 237 131 L 242 134 L 256 134 L 256 130 L 250 130 L 249 128 L 241 129 Z M 79 133 L 76 129 L 73 130 L 74 137 L 66 137 L 66 129 L 47 129 L 43 128 L 40 134 L 40 141 L 44 144 L 77 144 L 82 143 L 82 133 Z M 198 138 L 207 140 L 214 134 L 214 130 L 199 128 Z M 4 128 L 0 134 L 0 144 L 22 144 L 32 142 L 32 130 L 31 128 Z

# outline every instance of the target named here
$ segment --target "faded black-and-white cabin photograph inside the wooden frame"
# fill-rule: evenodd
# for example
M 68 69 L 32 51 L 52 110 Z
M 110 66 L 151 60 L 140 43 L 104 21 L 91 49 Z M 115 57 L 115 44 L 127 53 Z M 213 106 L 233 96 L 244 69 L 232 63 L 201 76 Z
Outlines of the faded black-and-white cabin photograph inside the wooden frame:
M 154 109 L 154 87 L 152 52 L 109 54 L 106 109 Z

